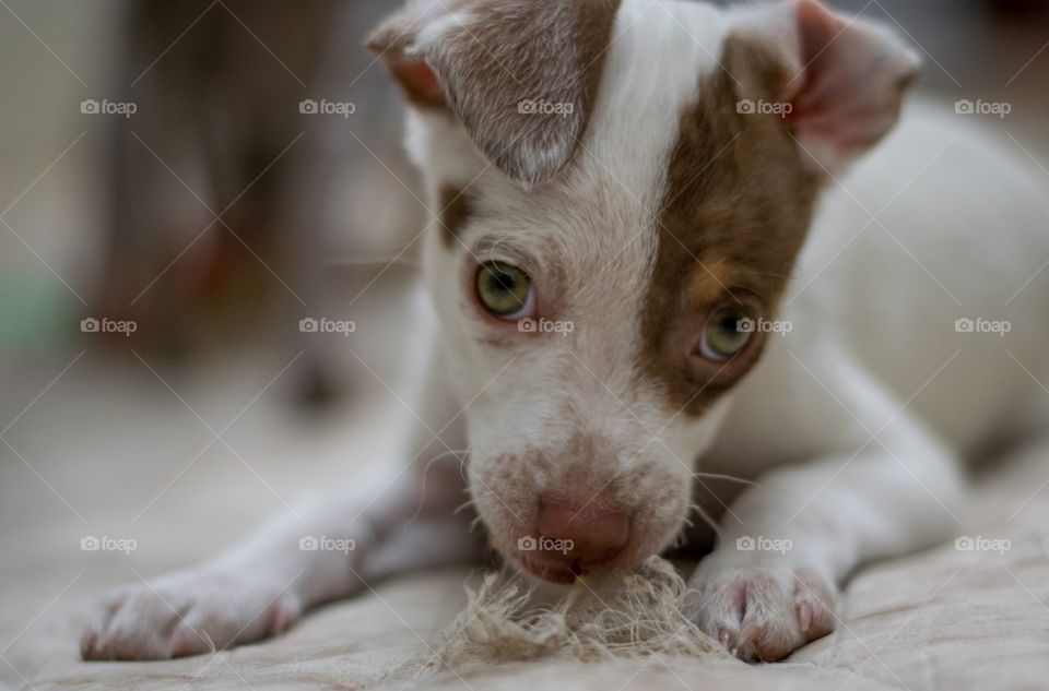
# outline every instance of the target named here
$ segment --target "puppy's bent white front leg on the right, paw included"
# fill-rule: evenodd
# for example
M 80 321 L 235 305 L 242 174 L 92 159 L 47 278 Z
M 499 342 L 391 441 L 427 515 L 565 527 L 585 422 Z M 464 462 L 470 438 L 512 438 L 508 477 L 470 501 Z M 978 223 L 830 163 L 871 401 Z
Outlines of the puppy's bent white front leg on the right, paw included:
M 838 585 L 857 565 L 958 528 L 964 490 L 951 451 L 857 367 L 823 373 L 836 409 L 814 408 L 836 450 L 743 492 L 691 582 L 688 613 L 743 659 L 780 659 L 829 633 Z

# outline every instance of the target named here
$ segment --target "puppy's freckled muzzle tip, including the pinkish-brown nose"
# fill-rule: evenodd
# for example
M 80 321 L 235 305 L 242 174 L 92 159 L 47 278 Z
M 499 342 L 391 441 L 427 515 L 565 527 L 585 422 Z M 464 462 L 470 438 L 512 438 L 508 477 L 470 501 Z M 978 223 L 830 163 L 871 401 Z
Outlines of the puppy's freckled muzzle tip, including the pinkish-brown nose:
M 689 474 L 664 458 L 624 467 L 615 457 L 547 452 L 476 458 L 471 492 L 494 545 L 511 563 L 554 583 L 632 569 L 659 553 L 687 519 Z

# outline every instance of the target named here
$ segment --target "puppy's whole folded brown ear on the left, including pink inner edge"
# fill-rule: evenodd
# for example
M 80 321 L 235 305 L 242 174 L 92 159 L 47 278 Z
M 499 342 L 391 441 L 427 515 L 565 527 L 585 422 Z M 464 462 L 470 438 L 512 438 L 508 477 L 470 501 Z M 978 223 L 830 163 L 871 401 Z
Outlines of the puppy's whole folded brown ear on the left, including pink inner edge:
M 416 0 L 368 39 L 423 110 L 446 110 L 512 180 L 575 153 L 620 0 Z

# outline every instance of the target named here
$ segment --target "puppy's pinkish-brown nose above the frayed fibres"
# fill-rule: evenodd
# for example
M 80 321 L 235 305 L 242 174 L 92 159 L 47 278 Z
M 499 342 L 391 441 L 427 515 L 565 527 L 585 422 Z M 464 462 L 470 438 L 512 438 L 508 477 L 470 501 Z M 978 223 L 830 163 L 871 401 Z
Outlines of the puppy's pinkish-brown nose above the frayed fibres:
M 563 547 L 544 556 L 578 574 L 623 550 L 630 537 L 630 516 L 623 511 L 541 501 L 535 527 L 542 537 Z

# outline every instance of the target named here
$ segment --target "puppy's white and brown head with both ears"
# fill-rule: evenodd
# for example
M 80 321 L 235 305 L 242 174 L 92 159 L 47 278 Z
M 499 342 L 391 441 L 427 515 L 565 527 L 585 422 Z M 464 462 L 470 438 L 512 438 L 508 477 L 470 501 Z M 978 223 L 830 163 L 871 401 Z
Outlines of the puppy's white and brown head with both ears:
M 423 0 L 370 46 L 411 104 L 493 541 L 565 582 L 661 551 L 821 184 L 916 58 L 813 0 Z

